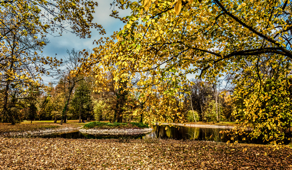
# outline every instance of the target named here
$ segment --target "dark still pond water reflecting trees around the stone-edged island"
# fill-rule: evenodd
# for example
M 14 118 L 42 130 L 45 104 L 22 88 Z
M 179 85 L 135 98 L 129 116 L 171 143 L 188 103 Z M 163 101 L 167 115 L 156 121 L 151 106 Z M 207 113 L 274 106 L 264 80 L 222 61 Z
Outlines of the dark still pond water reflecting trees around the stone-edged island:
M 109 134 L 88 134 L 79 131 L 41 134 L 32 137 L 38 138 L 67 138 L 67 139 L 118 139 L 118 138 L 131 138 L 131 139 L 144 139 L 144 138 L 158 138 L 158 139 L 175 139 L 175 140 L 205 140 L 215 142 L 227 142 L 230 137 L 219 133 L 227 129 L 224 128 L 202 128 L 202 127 L 169 127 L 165 130 L 166 126 L 154 126 L 151 132 L 144 134 L 127 134 L 127 135 L 109 135 Z M 222 137 L 222 138 L 221 138 Z M 240 136 L 239 143 L 254 143 L 263 144 L 261 139 L 242 140 L 245 136 Z M 232 143 L 232 140 L 230 140 Z

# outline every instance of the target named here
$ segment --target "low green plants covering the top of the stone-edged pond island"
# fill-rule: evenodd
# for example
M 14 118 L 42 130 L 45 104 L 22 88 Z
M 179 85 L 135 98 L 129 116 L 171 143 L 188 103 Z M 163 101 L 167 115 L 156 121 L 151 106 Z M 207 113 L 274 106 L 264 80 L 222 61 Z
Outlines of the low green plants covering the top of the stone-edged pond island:
M 84 129 L 113 129 L 113 128 L 119 128 L 119 129 L 143 129 L 143 128 L 148 128 L 148 124 L 143 124 L 143 123 L 136 123 L 136 122 L 131 122 L 131 123 L 109 123 L 109 122 L 90 122 L 86 125 L 83 126 Z

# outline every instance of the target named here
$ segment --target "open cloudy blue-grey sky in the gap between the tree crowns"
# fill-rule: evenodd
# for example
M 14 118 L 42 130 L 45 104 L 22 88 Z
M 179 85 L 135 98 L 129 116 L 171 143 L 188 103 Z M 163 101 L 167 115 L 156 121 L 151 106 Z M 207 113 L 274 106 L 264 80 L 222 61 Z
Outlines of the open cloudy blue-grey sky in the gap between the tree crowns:
M 90 49 L 97 47 L 97 44 L 94 43 L 94 40 L 98 40 L 101 37 L 109 37 L 113 34 L 114 31 L 118 31 L 120 28 L 124 27 L 124 23 L 120 21 L 119 19 L 116 19 L 114 17 L 109 16 L 111 14 L 111 6 L 110 3 L 112 1 L 107 0 L 97 0 L 98 6 L 95 7 L 95 13 L 93 14 L 94 20 L 93 22 L 102 25 L 102 27 L 105 29 L 106 33 L 105 35 L 99 34 L 98 30 L 91 30 L 91 38 L 85 38 L 81 39 L 77 37 L 75 34 L 71 32 L 63 32 L 62 36 L 60 37 L 54 37 L 52 35 L 47 35 L 47 39 L 50 41 L 48 43 L 43 51 L 44 56 L 49 57 L 56 57 L 57 59 L 61 59 L 64 57 L 67 57 L 67 49 L 71 51 L 73 48 L 77 51 L 82 51 L 83 49 Z M 131 11 L 126 10 L 120 10 L 118 8 L 115 8 L 117 11 L 119 11 L 119 16 L 128 16 L 131 15 Z M 56 34 L 57 35 L 57 34 Z M 57 54 L 57 55 L 55 55 Z M 50 82 L 53 78 L 52 77 L 42 77 L 44 80 L 44 84 L 47 84 Z

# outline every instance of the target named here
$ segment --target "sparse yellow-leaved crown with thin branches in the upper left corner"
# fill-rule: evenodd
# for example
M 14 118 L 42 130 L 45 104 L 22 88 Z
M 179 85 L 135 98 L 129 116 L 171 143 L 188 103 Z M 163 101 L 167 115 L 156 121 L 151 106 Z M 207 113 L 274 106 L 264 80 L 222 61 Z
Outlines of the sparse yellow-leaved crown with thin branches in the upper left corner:
M 12 83 L 39 83 L 41 75 L 50 74 L 60 64 L 41 55 L 48 42 L 46 34 L 72 32 L 90 37 L 90 29 L 105 33 L 93 23 L 98 4 L 93 1 L 0 1 L 0 86 L 4 89 L 3 112 L 6 115 L 8 90 Z M 58 33 L 57 33 L 58 32 Z M 10 99 L 11 100 L 11 99 Z

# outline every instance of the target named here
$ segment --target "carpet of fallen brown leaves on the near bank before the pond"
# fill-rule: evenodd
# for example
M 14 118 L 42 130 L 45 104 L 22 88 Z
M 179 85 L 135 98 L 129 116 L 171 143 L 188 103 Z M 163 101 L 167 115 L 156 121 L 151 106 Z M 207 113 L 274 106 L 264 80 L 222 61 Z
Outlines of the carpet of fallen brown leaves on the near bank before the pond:
M 291 169 L 292 150 L 203 141 L 0 138 L 0 169 Z M 247 151 L 242 152 L 244 148 Z M 266 155 L 265 155 L 266 152 Z

